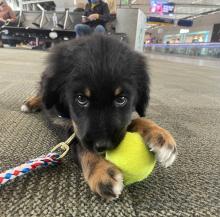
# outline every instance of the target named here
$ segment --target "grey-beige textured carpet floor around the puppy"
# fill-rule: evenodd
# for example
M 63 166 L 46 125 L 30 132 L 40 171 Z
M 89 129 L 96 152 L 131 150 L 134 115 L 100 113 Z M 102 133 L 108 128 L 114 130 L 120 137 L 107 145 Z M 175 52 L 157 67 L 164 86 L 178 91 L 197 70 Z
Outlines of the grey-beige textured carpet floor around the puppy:
M 42 115 L 20 112 L 36 92 L 46 53 L 0 49 L 1 170 L 47 153 L 61 141 Z M 178 159 L 106 203 L 90 192 L 70 157 L 0 189 L 1 217 L 120 217 L 220 215 L 220 72 L 151 59 L 148 117 L 178 143 Z

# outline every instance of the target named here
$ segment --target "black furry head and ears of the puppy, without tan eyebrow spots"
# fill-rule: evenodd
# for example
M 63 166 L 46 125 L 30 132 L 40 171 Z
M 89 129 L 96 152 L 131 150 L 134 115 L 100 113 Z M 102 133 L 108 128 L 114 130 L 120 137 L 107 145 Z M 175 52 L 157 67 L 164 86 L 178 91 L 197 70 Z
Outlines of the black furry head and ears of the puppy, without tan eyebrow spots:
M 117 88 L 121 91 L 115 96 Z M 86 90 L 90 97 L 85 96 Z M 44 109 L 56 108 L 74 122 L 85 148 L 98 152 L 114 148 L 124 137 L 132 112 L 145 114 L 149 101 L 146 59 L 102 35 L 62 43 L 51 51 L 40 95 Z

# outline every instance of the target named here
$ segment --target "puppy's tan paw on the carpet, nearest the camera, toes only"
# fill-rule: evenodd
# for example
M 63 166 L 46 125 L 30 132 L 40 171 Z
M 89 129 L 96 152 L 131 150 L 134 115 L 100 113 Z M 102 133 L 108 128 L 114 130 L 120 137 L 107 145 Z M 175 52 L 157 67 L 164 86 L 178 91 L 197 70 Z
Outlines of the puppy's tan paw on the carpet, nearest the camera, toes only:
M 123 190 L 122 173 L 104 159 L 92 167 L 87 178 L 91 190 L 106 200 L 118 198 Z

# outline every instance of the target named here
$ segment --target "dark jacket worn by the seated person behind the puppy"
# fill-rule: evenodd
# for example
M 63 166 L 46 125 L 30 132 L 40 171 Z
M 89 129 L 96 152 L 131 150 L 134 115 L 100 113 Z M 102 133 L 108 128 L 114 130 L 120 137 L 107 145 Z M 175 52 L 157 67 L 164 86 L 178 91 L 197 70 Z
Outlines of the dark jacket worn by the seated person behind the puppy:
M 97 25 L 103 25 L 110 20 L 110 13 L 109 13 L 109 8 L 108 4 L 100 0 L 100 2 L 92 8 L 91 3 L 87 3 L 84 11 L 84 16 L 89 16 L 91 14 L 99 14 L 99 19 L 94 20 L 94 21 L 88 21 L 86 24 L 95 27 Z

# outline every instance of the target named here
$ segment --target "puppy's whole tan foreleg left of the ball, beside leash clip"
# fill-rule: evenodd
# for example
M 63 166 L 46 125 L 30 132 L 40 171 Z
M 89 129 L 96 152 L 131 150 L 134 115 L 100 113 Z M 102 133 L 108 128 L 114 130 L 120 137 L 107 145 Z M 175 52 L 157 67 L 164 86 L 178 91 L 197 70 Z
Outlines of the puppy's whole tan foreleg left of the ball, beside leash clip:
M 123 176 L 113 164 L 95 153 L 78 150 L 78 160 L 90 189 L 106 200 L 119 197 L 123 189 Z

